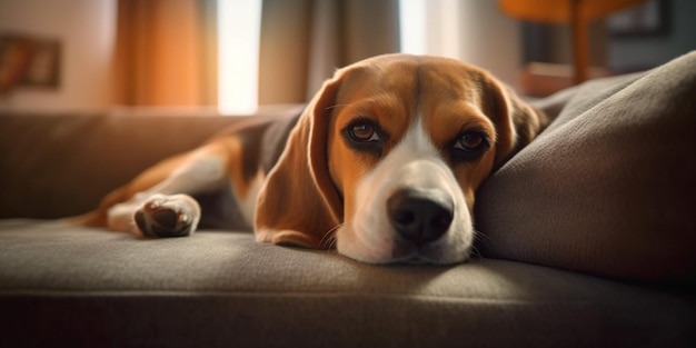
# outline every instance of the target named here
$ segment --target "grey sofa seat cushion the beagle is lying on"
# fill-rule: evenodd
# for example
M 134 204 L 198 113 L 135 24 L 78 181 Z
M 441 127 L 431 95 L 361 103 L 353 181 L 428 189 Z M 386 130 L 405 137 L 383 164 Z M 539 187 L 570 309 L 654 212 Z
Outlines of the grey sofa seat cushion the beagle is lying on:
M 688 346 L 696 308 L 652 288 L 494 259 L 375 267 L 203 231 L 0 222 L 0 346 Z

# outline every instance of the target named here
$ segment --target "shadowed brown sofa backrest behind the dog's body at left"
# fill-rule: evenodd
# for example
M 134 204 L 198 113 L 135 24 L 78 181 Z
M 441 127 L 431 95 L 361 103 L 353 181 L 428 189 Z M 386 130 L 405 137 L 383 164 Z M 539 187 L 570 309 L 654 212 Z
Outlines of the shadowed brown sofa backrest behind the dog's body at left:
M 157 161 L 235 122 L 226 117 L 0 115 L 0 218 L 87 212 Z

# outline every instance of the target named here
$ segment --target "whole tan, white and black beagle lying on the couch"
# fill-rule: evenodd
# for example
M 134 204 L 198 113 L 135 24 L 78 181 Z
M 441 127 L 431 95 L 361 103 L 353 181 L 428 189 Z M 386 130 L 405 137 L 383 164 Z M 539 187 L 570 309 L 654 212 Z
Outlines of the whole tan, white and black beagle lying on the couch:
M 473 66 L 379 56 L 338 70 L 300 116 L 237 125 L 78 221 L 143 237 L 249 228 L 369 264 L 461 262 L 476 189 L 548 122 Z

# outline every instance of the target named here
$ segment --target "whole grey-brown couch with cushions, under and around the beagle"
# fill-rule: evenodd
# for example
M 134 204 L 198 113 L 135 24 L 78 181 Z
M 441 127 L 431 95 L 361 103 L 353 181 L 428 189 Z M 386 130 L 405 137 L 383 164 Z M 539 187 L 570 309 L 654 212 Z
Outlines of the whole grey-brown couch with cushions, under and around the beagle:
M 696 347 L 696 53 L 534 103 L 448 267 L 67 225 L 240 118 L 3 112 L 0 346 Z

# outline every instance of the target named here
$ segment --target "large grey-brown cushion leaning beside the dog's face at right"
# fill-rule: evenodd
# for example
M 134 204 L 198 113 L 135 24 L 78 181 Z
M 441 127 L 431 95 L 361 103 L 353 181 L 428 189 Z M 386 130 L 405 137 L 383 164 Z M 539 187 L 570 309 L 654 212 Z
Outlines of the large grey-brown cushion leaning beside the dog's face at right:
M 593 274 L 693 280 L 696 52 L 539 106 L 560 115 L 480 189 L 479 249 Z

